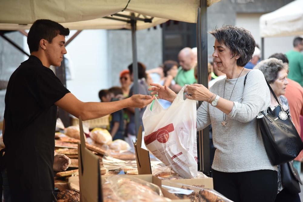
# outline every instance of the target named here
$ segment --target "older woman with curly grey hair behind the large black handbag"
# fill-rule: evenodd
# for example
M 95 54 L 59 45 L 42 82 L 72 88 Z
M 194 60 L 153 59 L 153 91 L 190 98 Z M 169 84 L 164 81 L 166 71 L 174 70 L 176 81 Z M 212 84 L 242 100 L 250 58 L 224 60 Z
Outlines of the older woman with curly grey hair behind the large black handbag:
M 274 91 L 276 97 L 281 103 L 283 109 L 287 112 L 288 117 L 291 118 L 288 100 L 284 96 L 285 89 L 288 84 L 287 75 L 288 75 L 288 65 L 283 63 L 282 60 L 277 58 L 269 58 L 263 60 L 255 66 L 254 69 L 259 69 L 263 72 L 265 79 L 269 83 L 270 87 Z M 278 106 L 274 95 L 271 93 L 271 110 L 274 110 Z M 295 168 L 294 168 L 295 169 Z M 281 177 L 281 166 L 278 166 L 278 195 L 276 197 L 276 202 L 279 201 L 288 201 L 288 202 L 299 202 L 299 194 L 294 194 L 282 184 Z

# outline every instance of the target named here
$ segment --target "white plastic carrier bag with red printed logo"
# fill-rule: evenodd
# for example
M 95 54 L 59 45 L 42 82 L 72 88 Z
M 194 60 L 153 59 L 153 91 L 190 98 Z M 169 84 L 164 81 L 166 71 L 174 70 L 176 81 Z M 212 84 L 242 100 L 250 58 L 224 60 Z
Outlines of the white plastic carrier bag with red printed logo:
M 142 121 L 146 148 L 181 177 L 192 178 L 198 174 L 197 109 L 195 100 L 183 99 L 185 87 L 167 109 L 157 99 L 152 109 L 149 104 Z

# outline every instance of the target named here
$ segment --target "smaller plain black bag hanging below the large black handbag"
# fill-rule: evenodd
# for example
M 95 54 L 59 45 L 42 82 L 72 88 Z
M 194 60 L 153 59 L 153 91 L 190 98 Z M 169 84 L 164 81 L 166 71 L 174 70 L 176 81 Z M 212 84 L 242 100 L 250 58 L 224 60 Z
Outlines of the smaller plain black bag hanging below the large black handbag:
M 284 189 L 291 193 L 298 194 L 301 192 L 300 184 L 302 184 L 297 169 L 295 169 L 291 162 L 281 165 L 281 178 Z

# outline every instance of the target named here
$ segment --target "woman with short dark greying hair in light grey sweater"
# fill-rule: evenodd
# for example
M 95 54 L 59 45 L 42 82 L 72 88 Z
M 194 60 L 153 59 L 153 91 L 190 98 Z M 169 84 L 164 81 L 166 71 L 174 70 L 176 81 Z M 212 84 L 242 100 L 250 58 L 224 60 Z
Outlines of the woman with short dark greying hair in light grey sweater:
M 204 101 L 197 110 L 197 130 L 212 125 L 214 189 L 235 202 L 274 201 L 277 166 L 267 156 L 256 121 L 260 111 L 270 106 L 270 92 L 261 71 L 244 68 L 254 53 L 255 40 L 249 31 L 231 25 L 210 34 L 215 37 L 212 56 L 226 78 L 209 90 L 192 84 L 186 98 Z M 153 86 L 151 94 L 175 99 L 168 88 Z

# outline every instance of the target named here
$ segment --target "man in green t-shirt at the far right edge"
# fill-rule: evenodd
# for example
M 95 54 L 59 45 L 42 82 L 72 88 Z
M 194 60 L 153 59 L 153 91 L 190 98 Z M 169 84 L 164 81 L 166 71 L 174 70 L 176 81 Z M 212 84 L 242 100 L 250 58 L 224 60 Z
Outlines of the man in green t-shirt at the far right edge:
M 294 39 L 294 49 L 286 53 L 289 61 L 289 73 L 288 78 L 297 81 L 303 86 L 303 38 L 296 37 Z

